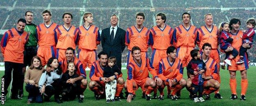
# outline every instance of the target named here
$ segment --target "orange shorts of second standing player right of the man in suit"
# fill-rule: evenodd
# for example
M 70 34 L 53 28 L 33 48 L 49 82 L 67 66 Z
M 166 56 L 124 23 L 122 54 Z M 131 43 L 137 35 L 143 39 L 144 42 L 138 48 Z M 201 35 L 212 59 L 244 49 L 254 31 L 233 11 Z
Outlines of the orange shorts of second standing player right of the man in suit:
M 162 58 L 167 57 L 167 50 L 158 50 L 158 49 L 153 49 L 152 51 L 152 57 L 151 57 L 151 63 L 155 70 L 158 70 L 159 68 L 159 62 Z

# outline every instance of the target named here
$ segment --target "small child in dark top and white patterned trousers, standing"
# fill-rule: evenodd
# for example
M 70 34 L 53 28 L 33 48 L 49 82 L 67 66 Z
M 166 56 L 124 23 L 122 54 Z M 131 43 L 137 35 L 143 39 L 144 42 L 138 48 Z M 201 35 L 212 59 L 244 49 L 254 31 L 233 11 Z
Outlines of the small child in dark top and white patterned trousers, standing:
M 120 75 L 121 70 L 115 65 L 117 62 L 116 57 L 112 56 L 108 58 L 108 66 L 104 68 L 103 77 L 111 77 L 113 75 Z M 114 79 L 112 81 L 106 82 L 105 85 L 105 92 L 106 92 L 106 99 L 108 102 L 115 102 L 114 95 L 116 93 L 117 88 L 117 80 Z

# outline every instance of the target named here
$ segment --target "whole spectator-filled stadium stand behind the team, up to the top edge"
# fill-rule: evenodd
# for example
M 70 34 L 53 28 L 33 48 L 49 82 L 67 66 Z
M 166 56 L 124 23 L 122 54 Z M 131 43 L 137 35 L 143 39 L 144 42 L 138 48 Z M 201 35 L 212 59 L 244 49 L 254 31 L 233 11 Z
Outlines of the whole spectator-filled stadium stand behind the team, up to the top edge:
M 151 2 L 153 1 L 153 2 Z M 62 14 L 71 12 L 73 14 L 73 25 L 75 27 L 83 24 L 82 14 L 89 11 L 94 14 L 94 24 L 100 29 L 110 27 L 110 16 L 119 15 L 119 27 L 126 30 L 135 25 L 135 13 L 144 12 L 146 19 L 144 26 L 151 28 L 155 26 L 155 15 L 159 12 L 166 13 L 169 26 L 175 28 L 182 24 L 181 15 L 184 12 L 191 13 L 192 24 L 196 27 L 204 25 L 204 16 L 207 13 L 213 14 L 214 24 L 217 26 L 220 22 L 238 18 L 241 20 L 241 30 L 246 29 L 246 20 L 256 18 L 256 4 L 252 0 L 2 0 L 0 3 L 0 28 L 2 30 L 11 29 L 16 26 L 19 18 L 24 18 L 25 11 L 33 11 L 34 24 L 43 22 L 41 12 L 44 9 L 50 9 L 53 13 L 52 21 L 57 24 L 63 24 Z M 9 18 L 7 16 L 9 15 Z M 7 21 L 6 21 L 7 20 Z M 4 24 L 4 22 L 7 22 Z M 3 34 L 3 33 L 1 33 Z M 2 35 L 0 35 L 2 36 Z M 255 45 L 255 40 L 254 40 Z M 101 45 L 98 45 L 97 52 L 102 51 Z M 127 60 L 127 48 L 122 53 L 122 62 Z M 256 47 L 253 46 L 248 51 L 249 61 L 256 62 Z M 151 49 L 148 50 L 151 58 Z M 222 61 L 225 54 L 221 53 Z M 3 62 L 0 54 L 0 62 Z

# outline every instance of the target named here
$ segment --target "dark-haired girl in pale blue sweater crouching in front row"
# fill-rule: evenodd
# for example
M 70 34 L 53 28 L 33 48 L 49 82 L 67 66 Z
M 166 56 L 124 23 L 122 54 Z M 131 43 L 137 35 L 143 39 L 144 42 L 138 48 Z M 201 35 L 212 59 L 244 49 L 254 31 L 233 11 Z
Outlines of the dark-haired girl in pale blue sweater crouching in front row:
M 50 70 L 44 71 L 39 80 L 40 92 L 41 94 L 44 94 L 44 101 L 49 102 L 50 97 L 54 95 L 55 102 L 62 103 L 62 100 L 59 97 L 61 87 L 59 79 L 62 70 L 59 66 L 58 59 L 51 57 L 47 62 L 47 67 L 49 67 Z

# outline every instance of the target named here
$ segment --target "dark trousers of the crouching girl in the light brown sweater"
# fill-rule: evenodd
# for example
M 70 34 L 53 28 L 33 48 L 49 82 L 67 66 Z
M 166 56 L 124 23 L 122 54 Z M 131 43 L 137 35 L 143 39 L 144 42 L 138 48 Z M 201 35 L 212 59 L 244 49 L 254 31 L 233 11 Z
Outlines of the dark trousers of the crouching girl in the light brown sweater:
M 25 88 L 26 88 L 26 91 L 28 92 L 27 99 L 35 100 L 35 102 L 37 102 L 37 103 L 43 102 L 43 97 L 42 97 L 38 87 L 36 87 L 34 85 L 27 84 L 25 86 Z

